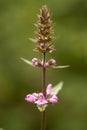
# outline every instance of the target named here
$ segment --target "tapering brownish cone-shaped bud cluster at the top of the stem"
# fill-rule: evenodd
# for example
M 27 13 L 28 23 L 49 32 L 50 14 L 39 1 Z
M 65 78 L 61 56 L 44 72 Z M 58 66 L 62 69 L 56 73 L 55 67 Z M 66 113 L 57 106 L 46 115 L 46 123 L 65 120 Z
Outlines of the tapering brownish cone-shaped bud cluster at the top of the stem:
M 54 45 L 49 43 L 54 40 L 53 22 L 47 6 L 43 6 L 38 15 L 38 21 L 35 24 L 37 30 L 33 42 L 38 43 L 34 50 L 41 53 L 52 52 L 55 50 Z M 48 44 L 49 43 L 49 44 Z

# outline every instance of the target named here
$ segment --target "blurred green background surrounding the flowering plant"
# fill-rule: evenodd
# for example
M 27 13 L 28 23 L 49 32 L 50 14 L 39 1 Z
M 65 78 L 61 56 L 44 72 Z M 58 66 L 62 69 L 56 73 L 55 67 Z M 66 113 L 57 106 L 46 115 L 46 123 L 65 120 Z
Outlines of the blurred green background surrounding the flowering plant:
M 56 51 L 48 57 L 67 69 L 49 69 L 47 83 L 64 87 L 59 103 L 47 109 L 48 130 L 87 129 L 87 0 L 0 0 L 0 128 L 40 130 L 40 112 L 25 95 L 41 90 L 41 70 L 20 60 L 33 51 L 34 23 L 47 4 L 55 23 Z

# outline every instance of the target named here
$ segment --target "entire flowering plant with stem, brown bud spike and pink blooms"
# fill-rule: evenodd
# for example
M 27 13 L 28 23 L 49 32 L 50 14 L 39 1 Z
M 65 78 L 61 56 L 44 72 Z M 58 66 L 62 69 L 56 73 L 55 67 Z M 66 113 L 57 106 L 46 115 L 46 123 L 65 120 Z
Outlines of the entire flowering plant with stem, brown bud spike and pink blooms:
M 39 93 L 28 94 L 25 100 L 37 106 L 41 114 L 41 130 L 45 130 L 45 110 L 50 104 L 56 104 L 59 101 L 57 94 L 62 89 L 63 82 L 60 82 L 55 87 L 52 84 L 46 84 L 46 69 L 47 68 L 67 68 L 69 65 L 57 66 L 56 60 L 47 59 L 47 53 L 52 53 L 55 50 L 53 44 L 54 30 L 53 22 L 51 20 L 49 9 L 46 5 L 42 6 L 38 14 L 38 21 L 35 24 L 36 32 L 35 38 L 29 38 L 35 43 L 34 51 L 42 54 L 42 59 L 33 58 L 31 61 L 21 58 L 22 61 L 33 67 L 40 67 L 42 69 L 42 90 Z

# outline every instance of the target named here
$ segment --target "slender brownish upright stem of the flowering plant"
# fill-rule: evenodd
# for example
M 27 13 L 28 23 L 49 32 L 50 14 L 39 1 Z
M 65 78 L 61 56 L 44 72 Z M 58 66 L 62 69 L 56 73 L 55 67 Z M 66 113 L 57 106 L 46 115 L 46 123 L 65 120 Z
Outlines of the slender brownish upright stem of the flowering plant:
M 46 96 L 46 68 L 45 68 L 45 61 L 46 61 L 46 53 L 43 53 L 43 77 L 42 77 L 42 92 L 44 96 Z M 41 113 L 41 130 L 45 130 L 46 127 L 46 110 Z

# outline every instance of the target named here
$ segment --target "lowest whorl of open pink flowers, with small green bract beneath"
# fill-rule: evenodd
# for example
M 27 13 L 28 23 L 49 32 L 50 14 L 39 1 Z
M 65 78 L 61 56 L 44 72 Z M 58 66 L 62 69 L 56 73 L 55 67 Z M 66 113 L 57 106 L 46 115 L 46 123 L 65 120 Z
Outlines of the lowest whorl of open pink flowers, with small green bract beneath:
M 57 96 L 51 91 L 52 84 L 48 84 L 46 89 L 46 96 L 42 92 L 28 94 L 25 97 L 27 102 L 34 103 L 38 106 L 40 111 L 44 111 L 48 104 L 54 104 L 58 102 Z

